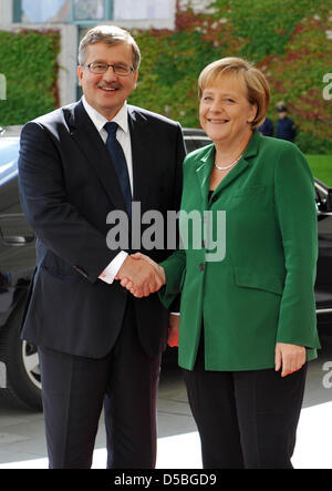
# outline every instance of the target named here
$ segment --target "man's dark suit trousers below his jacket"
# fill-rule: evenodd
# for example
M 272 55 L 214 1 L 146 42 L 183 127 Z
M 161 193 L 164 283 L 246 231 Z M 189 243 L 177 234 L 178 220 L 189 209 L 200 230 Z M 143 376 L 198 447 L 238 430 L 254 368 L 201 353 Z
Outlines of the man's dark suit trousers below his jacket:
M 152 469 L 160 356 L 143 350 L 131 301 L 112 351 L 102 359 L 39 347 L 50 468 L 92 464 L 104 403 L 107 468 Z

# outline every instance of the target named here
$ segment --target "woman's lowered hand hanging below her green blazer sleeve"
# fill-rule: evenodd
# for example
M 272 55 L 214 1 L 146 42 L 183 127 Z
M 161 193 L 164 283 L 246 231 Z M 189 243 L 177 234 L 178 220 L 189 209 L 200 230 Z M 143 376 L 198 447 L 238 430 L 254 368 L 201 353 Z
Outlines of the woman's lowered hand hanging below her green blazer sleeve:
M 277 342 L 276 345 L 276 371 L 282 368 L 281 377 L 287 377 L 294 371 L 300 370 L 305 364 L 304 346 L 288 345 L 286 342 Z

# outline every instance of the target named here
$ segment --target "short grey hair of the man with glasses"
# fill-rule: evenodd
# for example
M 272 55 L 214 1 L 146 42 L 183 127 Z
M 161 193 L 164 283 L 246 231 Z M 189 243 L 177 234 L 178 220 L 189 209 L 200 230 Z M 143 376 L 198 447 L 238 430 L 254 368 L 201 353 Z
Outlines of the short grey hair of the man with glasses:
M 79 47 L 79 64 L 83 65 L 86 60 L 86 48 L 90 44 L 95 44 L 97 42 L 104 42 L 110 47 L 125 42 L 133 48 L 133 67 L 138 70 L 141 63 L 141 51 L 139 48 L 132 37 L 132 34 L 125 29 L 117 28 L 116 25 L 96 25 L 90 29 Z

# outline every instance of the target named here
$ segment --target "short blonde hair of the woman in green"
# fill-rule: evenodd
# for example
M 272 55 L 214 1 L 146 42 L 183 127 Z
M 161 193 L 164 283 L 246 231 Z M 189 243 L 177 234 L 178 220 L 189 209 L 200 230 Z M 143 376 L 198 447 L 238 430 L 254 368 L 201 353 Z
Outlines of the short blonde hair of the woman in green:
M 257 114 L 251 122 L 255 130 L 264 121 L 269 103 L 270 88 L 263 73 L 241 58 L 221 58 L 208 64 L 198 78 L 198 96 L 207 86 L 214 85 L 222 75 L 236 75 L 245 82 L 247 88 L 247 99 L 250 104 L 257 105 Z

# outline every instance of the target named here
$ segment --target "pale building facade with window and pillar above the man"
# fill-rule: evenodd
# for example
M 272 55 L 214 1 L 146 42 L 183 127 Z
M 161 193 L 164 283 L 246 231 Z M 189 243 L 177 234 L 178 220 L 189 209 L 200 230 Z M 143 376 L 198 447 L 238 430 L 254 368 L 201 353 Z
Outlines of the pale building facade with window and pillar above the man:
M 98 23 L 128 30 L 174 29 L 176 6 L 176 0 L 0 0 L 0 30 L 60 31 L 59 91 L 64 105 L 80 95 L 77 45 L 87 29 Z

